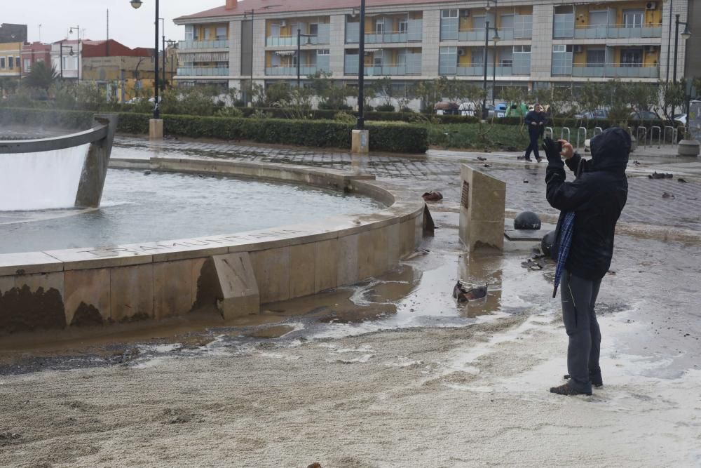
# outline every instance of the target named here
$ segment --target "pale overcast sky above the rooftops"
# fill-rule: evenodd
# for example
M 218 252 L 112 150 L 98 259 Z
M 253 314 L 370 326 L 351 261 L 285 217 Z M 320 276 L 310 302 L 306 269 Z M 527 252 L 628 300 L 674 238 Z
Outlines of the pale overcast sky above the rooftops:
M 129 0 L 3 0 L 0 22 L 27 25 L 30 42 L 55 42 L 65 39 L 68 29 L 80 26 L 85 38 L 105 39 L 109 8 L 109 37 L 130 47 L 154 46 L 156 0 L 142 0 L 138 10 Z M 160 16 L 165 18 L 165 39 L 184 39 L 185 29 L 173 24 L 173 18 L 223 6 L 225 0 L 161 0 Z M 73 34 L 70 39 L 75 39 Z

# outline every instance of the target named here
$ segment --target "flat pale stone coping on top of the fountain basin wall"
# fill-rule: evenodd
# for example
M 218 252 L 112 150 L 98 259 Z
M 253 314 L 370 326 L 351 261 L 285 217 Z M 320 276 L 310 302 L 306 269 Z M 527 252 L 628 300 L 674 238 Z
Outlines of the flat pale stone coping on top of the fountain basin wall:
M 112 159 L 134 168 L 135 160 Z M 217 173 L 243 178 L 294 182 L 313 187 L 354 192 L 386 203 L 376 213 L 338 215 L 304 224 L 271 227 L 233 234 L 215 234 L 191 239 L 130 243 L 120 246 L 46 250 L 0 255 L 0 276 L 61 272 L 144 265 L 172 260 L 205 258 L 224 253 L 251 252 L 339 239 L 414 219 L 423 213 L 424 203 L 415 194 L 372 175 L 288 164 L 153 158 L 139 161 L 137 168 L 155 171 Z

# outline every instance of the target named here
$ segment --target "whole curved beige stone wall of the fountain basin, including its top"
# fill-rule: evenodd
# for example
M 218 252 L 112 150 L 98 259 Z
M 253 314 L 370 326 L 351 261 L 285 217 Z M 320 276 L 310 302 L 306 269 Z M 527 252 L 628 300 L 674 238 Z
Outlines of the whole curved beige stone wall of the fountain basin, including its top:
M 111 166 L 294 182 L 387 208 L 236 234 L 0 255 L 0 334 L 163 319 L 217 305 L 225 319 L 378 276 L 415 250 L 425 204 L 372 176 L 306 166 L 155 158 Z

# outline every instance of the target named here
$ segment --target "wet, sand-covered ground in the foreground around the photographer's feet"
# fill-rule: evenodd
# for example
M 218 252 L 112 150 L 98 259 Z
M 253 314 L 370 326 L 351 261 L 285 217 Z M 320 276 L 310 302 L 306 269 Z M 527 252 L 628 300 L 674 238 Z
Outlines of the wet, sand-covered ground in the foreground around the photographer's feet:
M 272 323 L 91 342 L 116 349 L 93 367 L 70 340 L 48 370 L 0 353 L 14 362 L 0 366 L 0 466 L 701 463 L 697 243 L 620 236 L 598 308 L 605 386 L 562 397 L 547 392 L 566 371 L 552 272 L 520 267 L 525 253 L 467 258 L 456 215 L 434 218 L 426 255 L 268 305 Z M 458 277 L 494 288 L 459 306 Z

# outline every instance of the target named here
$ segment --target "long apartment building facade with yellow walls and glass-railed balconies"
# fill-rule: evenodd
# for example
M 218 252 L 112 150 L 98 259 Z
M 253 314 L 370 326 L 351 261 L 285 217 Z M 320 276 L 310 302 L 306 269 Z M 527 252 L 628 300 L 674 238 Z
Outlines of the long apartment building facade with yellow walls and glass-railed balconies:
M 447 76 L 496 87 L 572 86 L 586 81 L 655 83 L 673 67 L 670 18 L 685 21 L 689 0 L 430 1 L 369 0 L 365 74 L 398 82 Z M 228 0 L 177 18 L 185 27 L 176 79 L 241 88 L 294 82 L 328 72 L 353 83 L 358 74 L 358 1 Z M 486 32 L 489 22 L 489 32 Z M 494 28 L 498 41 L 494 41 Z M 300 32 L 301 53 L 297 54 Z M 686 44 L 676 55 L 683 76 Z M 669 65 L 668 65 L 669 64 Z M 670 72 L 671 74 L 671 72 Z

